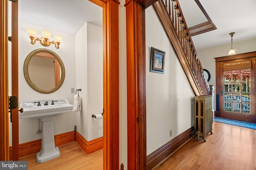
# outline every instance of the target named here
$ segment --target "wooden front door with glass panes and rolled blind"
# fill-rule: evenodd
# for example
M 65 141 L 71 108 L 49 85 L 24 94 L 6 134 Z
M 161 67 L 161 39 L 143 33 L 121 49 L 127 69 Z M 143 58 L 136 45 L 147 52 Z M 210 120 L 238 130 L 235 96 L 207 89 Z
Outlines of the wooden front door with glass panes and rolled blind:
M 255 122 L 255 58 L 220 62 L 220 117 Z

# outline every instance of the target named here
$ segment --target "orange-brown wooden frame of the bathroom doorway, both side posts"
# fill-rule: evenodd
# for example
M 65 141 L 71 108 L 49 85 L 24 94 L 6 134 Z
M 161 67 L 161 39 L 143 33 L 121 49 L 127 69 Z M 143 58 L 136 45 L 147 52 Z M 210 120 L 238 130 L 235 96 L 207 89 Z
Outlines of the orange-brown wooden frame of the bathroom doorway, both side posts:
M 116 0 L 90 0 L 103 8 L 104 170 L 119 169 L 119 30 Z M 8 0 L 1 1 L 0 160 L 9 160 Z M 18 49 L 17 49 L 18 51 Z

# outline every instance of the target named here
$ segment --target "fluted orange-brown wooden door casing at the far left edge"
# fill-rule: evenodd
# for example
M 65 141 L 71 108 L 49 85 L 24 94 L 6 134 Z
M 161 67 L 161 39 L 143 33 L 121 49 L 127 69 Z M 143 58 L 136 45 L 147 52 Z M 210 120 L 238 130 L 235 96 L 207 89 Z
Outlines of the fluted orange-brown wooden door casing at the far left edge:
M 0 160 L 9 160 L 8 0 L 1 0 L 0 14 Z

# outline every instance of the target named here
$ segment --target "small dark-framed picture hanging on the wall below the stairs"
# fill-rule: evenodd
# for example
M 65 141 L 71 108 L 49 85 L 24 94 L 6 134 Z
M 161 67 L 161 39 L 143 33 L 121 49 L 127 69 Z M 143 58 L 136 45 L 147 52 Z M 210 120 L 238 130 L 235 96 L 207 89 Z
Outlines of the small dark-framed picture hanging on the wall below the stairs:
M 151 64 L 150 72 L 158 72 L 164 74 L 165 52 L 151 47 Z

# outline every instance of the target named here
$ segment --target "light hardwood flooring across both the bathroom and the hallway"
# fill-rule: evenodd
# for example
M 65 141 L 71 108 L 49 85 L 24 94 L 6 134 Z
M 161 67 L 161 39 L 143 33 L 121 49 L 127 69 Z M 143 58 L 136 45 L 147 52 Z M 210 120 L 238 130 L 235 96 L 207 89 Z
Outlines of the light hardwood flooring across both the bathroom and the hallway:
M 190 139 L 154 170 L 256 170 L 256 130 L 213 123 L 213 135 L 206 142 Z M 28 170 L 102 170 L 103 151 L 86 156 L 76 145 L 58 147 L 60 156 L 42 164 L 36 154 L 22 158 Z

